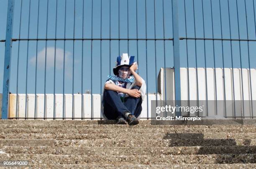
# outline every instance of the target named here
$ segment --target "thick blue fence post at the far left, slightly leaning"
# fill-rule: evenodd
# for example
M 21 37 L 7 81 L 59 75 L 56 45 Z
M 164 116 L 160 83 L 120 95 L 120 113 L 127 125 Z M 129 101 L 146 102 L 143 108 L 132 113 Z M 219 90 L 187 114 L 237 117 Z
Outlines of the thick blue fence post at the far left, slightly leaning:
M 5 63 L 3 77 L 3 102 L 2 102 L 2 119 L 8 119 L 8 99 L 9 99 L 9 82 L 10 82 L 10 60 L 12 53 L 13 37 L 13 9 L 14 0 L 8 0 L 8 13 L 5 36 Z

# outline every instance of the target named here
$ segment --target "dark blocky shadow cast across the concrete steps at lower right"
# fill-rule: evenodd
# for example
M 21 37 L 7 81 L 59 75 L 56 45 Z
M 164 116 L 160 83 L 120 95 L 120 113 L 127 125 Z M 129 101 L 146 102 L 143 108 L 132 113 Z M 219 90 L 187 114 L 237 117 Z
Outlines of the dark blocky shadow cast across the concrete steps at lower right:
M 169 139 L 169 147 L 197 146 L 181 154 L 216 154 L 215 164 L 256 163 L 256 146 L 250 139 L 204 139 L 202 133 L 169 133 L 163 139 Z

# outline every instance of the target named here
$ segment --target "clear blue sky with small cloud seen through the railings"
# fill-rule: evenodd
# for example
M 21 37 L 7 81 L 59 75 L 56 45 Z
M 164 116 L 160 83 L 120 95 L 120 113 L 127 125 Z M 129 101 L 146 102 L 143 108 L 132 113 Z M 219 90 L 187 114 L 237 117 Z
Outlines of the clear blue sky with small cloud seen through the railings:
M 109 8 L 111 2 L 111 10 Z M 163 10 L 164 2 L 164 10 Z M 179 36 L 193 38 L 203 38 L 203 21 L 205 25 L 205 38 L 240 38 L 247 39 L 246 30 L 246 13 L 248 21 L 248 38 L 256 39 L 255 18 L 253 11 L 253 0 L 229 0 L 230 8 L 230 27 L 228 16 L 228 0 L 203 0 L 204 20 L 202 15 L 202 0 L 194 0 L 195 6 L 195 26 L 192 0 L 179 0 Z M 212 13 L 211 13 L 212 2 Z M 220 3 L 219 3 L 220 2 Z M 0 39 L 5 39 L 5 26 L 8 0 L 0 0 Z M 136 0 L 120 0 L 120 10 L 118 15 L 118 0 L 102 0 L 101 1 L 84 0 L 84 15 L 83 15 L 83 0 L 67 0 L 66 13 L 66 38 L 173 38 L 172 34 L 172 1 L 171 0 L 146 0 L 146 17 L 145 18 L 145 0 L 137 0 L 138 21 L 136 22 Z M 185 4 L 184 4 L 185 3 Z M 128 9 L 127 9 L 128 4 Z M 74 6 L 75 5 L 75 6 Z M 254 3 L 256 5 L 256 3 Z M 185 6 L 185 7 L 184 7 Z M 238 13 L 236 8 L 238 7 Z M 246 7 L 246 8 L 245 8 Z M 37 22 L 38 38 L 46 38 L 46 16 L 47 16 L 47 0 L 40 0 L 39 3 L 39 21 L 38 17 L 38 0 L 31 0 L 31 9 L 29 17 L 29 0 L 23 0 L 21 25 L 20 25 L 20 9 L 21 0 L 15 0 L 13 38 L 37 38 Z M 74 16 L 75 8 L 75 16 Z M 186 10 L 184 10 L 184 8 Z M 155 15 L 154 15 L 155 10 Z M 110 13 L 111 11 L 111 13 Z M 164 11 L 164 17 L 163 17 Z M 186 11 L 186 26 L 185 26 L 185 11 Z M 221 11 L 221 20 L 220 20 Z M 102 14 L 102 21 L 101 21 Z M 111 20 L 110 20 L 111 14 Z M 47 38 L 64 38 L 64 15 L 65 15 L 65 0 L 58 0 L 57 6 L 57 24 L 56 21 L 56 0 L 49 0 L 48 8 L 48 26 Z M 238 20 L 237 20 L 238 15 Z M 119 17 L 118 17 L 119 16 Z M 29 36 L 28 36 L 28 19 L 30 18 Z M 155 18 L 155 19 L 154 19 Z M 213 19 L 212 19 L 213 18 Z M 83 20 L 84 19 L 84 20 Z M 74 28 L 75 21 L 75 28 Z M 164 21 L 164 22 L 163 22 Z M 239 27 L 238 27 L 239 22 Z M 120 24 L 119 24 L 120 23 Z M 138 23 L 138 24 L 137 24 Z M 101 26 L 100 26 L 101 25 Z M 213 27 L 212 27 L 213 25 Z M 222 26 L 222 29 L 221 29 Z M 119 29 L 120 27 L 120 29 Z M 195 29 L 194 29 L 195 28 Z M 238 35 L 239 28 L 239 35 Z M 212 35 L 213 30 L 213 35 Z M 222 30 L 222 33 L 221 33 Z M 83 35 L 83 36 L 82 36 Z M 18 54 L 18 46 L 20 50 Z M 38 67 L 37 67 L 37 93 L 44 93 L 44 85 L 46 85 L 46 93 L 54 92 L 54 41 L 38 41 Z M 101 48 L 100 48 L 101 45 Z M 110 48 L 111 45 L 111 48 Z M 155 46 L 156 45 L 156 46 Z M 197 48 L 195 48 L 195 45 Z M 251 68 L 256 68 L 255 57 L 255 42 L 249 42 L 249 53 Z M 91 50 L 92 46 L 92 50 Z M 147 46 L 147 50 L 146 50 Z M 36 41 L 29 42 L 20 41 L 13 42 L 12 60 L 11 60 L 11 79 L 10 91 L 16 93 L 17 72 L 18 72 L 18 93 L 26 92 L 26 64 L 28 61 L 28 93 L 35 92 L 35 77 L 36 77 Z M 128 49 L 129 47 L 129 49 Z M 231 67 L 231 50 L 230 42 L 223 41 L 223 55 L 221 41 L 214 42 L 215 47 L 215 66 Z M 241 42 L 241 60 L 239 52 L 239 42 L 232 42 L 233 67 L 248 68 L 248 46 L 247 42 Z M 156 48 L 156 51 L 155 51 Z M 45 49 L 47 49 L 47 60 L 45 69 Z M 111 49 L 111 52 L 110 52 Z M 92 52 L 91 52 L 92 51 Z M 63 70 L 64 70 L 64 53 L 65 53 L 65 91 L 64 93 L 72 93 L 73 84 L 73 60 L 74 60 L 74 93 L 81 93 L 83 85 L 83 93 L 86 90 L 92 90 L 92 93 L 100 93 L 107 76 L 113 75 L 113 67 L 115 60 L 121 53 L 135 55 L 138 61 L 138 73 L 146 80 L 148 78 L 148 92 L 156 92 L 156 78 L 161 67 L 173 67 L 173 46 L 172 41 L 145 40 L 138 41 L 138 49 L 136 40 L 130 40 L 129 45 L 127 40 L 121 40 L 120 46 L 118 40 L 84 40 L 83 45 L 83 73 L 82 73 L 82 41 L 59 40 L 56 42 L 56 93 L 63 92 Z M 91 55 L 92 53 L 92 55 Z M 137 54 L 138 53 L 138 54 Z M 155 55 L 156 53 L 156 55 Z M 165 57 L 164 57 L 165 53 Z M 196 55 L 197 53 L 197 60 Z M 214 67 L 213 56 L 213 41 L 180 40 L 180 58 L 181 67 L 195 67 L 196 61 L 198 67 Z M 188 61 L 187 61 L 188 54 Z M 18 61 L 19 55 L 19 61 Z M 28 58 L 27 58 L 28 56 Z M 100 57 L 101 56 L 101 57 Z M 3 61 L 4 61 L 4 43 L 0 42 L 0 93 L 3 88 Z M 100 64 L 100 61 L 102 64 Z M 18 66 L 19 63 L 19 66 Z M 188 65 L 187 65 L 188 63 Z M 18 68 L 18 70 L 17 70 Z M 147 69 L 147 72 L 146 72 Z M 46 83 L 44 83 L 46 70 Z M 148 75 L 148 77 L 147 77 Z M 82 84 L 82 76 L 84 83 Z M 91 79 L 92 76 L 92 79 Z M 91 85 L 92 84 L 92 85 Z

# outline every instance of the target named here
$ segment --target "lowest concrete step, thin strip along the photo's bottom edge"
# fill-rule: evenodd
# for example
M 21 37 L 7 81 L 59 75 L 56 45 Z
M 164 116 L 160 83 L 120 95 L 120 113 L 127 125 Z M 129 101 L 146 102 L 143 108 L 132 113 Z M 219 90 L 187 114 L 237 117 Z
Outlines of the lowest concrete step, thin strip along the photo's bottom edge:
M 23 169 L 40 168 L 40 169 L 253 169 L 256 168 L 256 164 L 125 164 L 125 165 L 111 165 L 111 164 L 39 164 L 29 165 Z M 20 167 L 12 167 L 12 169 L 20 169 Z

